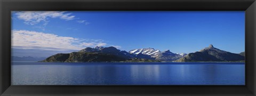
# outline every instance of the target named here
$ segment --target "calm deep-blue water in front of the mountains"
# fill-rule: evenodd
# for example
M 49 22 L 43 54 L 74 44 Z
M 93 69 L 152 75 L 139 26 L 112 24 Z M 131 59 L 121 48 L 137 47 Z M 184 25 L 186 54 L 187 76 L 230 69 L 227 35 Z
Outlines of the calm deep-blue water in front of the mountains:
M 13 62 L 12 85 L 244 85 L 244 62 Z

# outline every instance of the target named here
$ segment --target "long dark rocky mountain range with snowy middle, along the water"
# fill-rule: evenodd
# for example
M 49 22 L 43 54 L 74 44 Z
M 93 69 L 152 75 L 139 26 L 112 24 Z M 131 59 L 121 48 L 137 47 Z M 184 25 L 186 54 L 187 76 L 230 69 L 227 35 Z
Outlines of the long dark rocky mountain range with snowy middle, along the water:
M 159 51 L 153 48 L 134 49 L 129 52 L 116 47 L 86 47 L 78 52 L 58 53 L 41 62 L 158 62 L 158 61 L 243 61 L 244 55 L 219 50 L 213 45 L 195 53 L 172 53 L 170 50 Z

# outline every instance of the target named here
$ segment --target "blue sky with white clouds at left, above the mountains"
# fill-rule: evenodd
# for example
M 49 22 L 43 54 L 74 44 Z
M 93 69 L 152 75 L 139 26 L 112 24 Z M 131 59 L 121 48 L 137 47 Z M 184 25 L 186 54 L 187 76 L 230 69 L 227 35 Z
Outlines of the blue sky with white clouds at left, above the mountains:
M 240 53 L 244 28 L 244 11 L 21 11 L 12 12 L 12 48 L 34 57 L 97 45 L 191 53 L 213 44 Z

